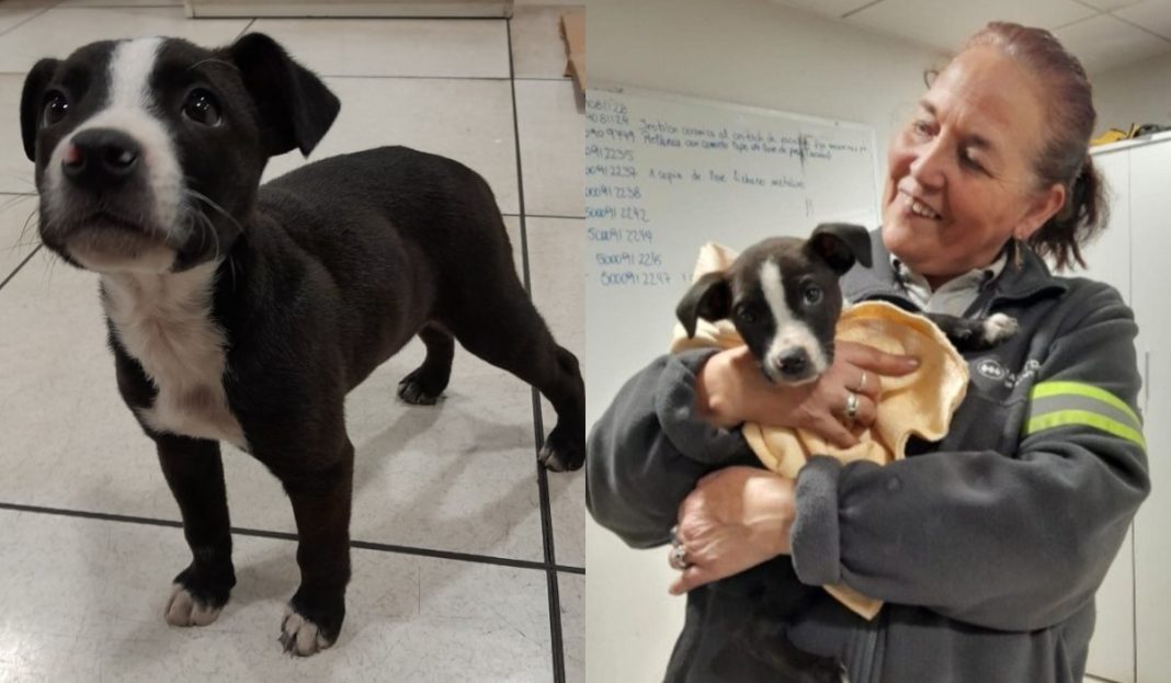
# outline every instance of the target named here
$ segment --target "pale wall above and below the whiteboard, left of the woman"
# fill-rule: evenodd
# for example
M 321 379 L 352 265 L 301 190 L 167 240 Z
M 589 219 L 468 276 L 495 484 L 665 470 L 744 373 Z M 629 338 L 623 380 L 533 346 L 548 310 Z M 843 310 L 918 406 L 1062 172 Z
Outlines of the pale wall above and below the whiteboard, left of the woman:
M 766 0 L 588 6 L 591 83 L 864 123 L 876 129 L 882 149 L 923 94 L 923 71 L 946 62 L 940 53 Z M 881 187 L 882 169 L 876 173 Z M 587 334 L 596 329 L 604 325 L 591 322 Z M 666 551 L 628 549 L 590 523 L 587 566 L 587 678 L 662 679 L 684 606 L 666 594 Z

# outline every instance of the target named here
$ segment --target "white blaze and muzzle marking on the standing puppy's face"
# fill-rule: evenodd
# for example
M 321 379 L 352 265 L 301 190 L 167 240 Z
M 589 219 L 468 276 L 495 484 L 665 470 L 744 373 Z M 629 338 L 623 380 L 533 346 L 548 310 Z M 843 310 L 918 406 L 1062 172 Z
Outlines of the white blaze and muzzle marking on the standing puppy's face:
M 114 47 L 105 74 L 109 82 L 105 107 L 63 137 L 46 165 L 50 213 L 57 213 L 54 207 L 67 200 L 61 162 L 73 137 L 83 130 L 112 128 L 125 132 L 142 146 L 139 163 L 145 170 L 150 192 L 150 211 L 144 212 L 150 225 L 143 227 L 166 235 L 172 244 L 186 237 L 182 232 L 185 228 L 177 225 L 179 199 L 183 196 L 183 170 L 170 132 L 151 111 L 155 100 L 150 76 L 162 42 L 163 39 L 159 37 L 144 37 L 123 41 Z

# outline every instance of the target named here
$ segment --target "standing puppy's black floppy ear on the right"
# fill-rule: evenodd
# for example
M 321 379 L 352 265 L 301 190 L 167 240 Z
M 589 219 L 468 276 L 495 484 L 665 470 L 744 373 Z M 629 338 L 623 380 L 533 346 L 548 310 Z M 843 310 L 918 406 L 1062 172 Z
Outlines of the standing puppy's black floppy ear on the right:
M 341 102 L 309 69 L 293 61 L 262 33 L 249 33 L 228 48 L 256 104 L 269 156 L 299 149 L 309 156 L 337 118 Z

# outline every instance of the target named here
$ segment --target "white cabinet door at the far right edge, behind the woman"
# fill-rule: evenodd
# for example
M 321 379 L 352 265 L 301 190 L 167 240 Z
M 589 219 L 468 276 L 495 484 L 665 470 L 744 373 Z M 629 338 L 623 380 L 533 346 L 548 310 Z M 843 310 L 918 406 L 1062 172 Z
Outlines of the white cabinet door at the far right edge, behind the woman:
M 1151 496 L 1135 519 L 1135 637 L 1138 681 L 1166 681 L 1171 671 L 1171 143 L 1130 155 L 1132 306 L 1138 358 L 1145 368 L 1144 431 Z

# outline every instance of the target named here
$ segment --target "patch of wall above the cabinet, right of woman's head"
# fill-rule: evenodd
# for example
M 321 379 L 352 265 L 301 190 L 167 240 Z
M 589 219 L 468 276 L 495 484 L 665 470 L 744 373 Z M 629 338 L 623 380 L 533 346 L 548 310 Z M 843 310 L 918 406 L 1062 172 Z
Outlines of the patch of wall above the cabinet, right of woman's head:
M 1171 125 L 1171 55 L 1090 76 L 1098 112 L 1095 135 L 1131 123 Z

